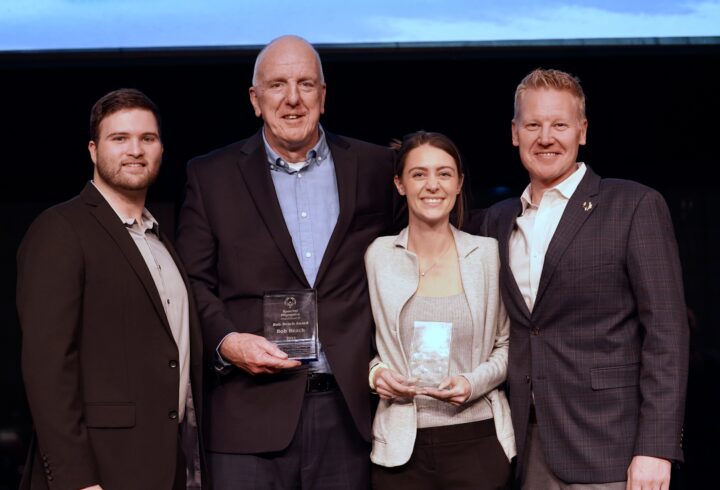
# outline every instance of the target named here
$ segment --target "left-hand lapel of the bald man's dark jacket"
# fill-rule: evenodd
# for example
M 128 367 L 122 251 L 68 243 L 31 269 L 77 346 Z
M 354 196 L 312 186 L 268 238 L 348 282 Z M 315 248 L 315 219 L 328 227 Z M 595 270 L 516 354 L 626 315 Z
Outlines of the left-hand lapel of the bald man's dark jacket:
M 270 169 L 268 168 L 267 154 L 265 153 L 261 133 L 258 132 L 250 138 L 243 146 L 242 151 L 244 157 L 238 161 L 238 168 L 247 184 L 248 193 L 255 202 L 255 208 L 265 222 L 265 226 L 270 230 L 270 235 L 290 268 L 298 279 L 309 288 L 310 284 L 308 284 L 305 273 L 300 266 L 295 247 L 293 247 L 292 237 L 287 229 L 282 209 L 280 209 L 280 202 L 277 199 L 275 184 L 273 184 Z

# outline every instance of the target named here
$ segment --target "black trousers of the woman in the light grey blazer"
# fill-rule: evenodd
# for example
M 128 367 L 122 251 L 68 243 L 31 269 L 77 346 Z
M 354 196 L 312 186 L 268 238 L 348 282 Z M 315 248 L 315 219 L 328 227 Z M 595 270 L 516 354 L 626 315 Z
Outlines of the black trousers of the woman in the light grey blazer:
M 372 465 L 376 490 L 496 490 L 508 488 L 509 479 L 493 419 L 418 429 L 407 463 Z

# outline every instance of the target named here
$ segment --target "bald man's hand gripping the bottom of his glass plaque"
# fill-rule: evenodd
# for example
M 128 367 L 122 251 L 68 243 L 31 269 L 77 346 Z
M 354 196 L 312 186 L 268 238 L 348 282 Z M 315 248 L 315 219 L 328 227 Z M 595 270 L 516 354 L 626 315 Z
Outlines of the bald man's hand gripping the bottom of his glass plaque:
M 277 373 L 294 368 L 300 361 L 287 354 L 265 337 L 249 333 L 231 333 L 220 344 L 220 355 L 250 374 Z

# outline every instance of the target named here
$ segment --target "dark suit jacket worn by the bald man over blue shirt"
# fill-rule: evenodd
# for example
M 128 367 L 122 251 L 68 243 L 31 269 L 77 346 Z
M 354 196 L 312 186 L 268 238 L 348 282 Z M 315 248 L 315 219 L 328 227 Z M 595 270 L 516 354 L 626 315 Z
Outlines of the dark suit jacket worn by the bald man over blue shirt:
M 326 137 L 340 214 L 315 284 L 319 336 L 355 425 L 369 440 L 373 320 L 363 254 L 373 239 L 392 231 L 393 156 L 369 143 Z M 263 334 L 264 292 L 311 287 L 285 225 L 260 132 L 188 164 L 179 224 L 178 252 L 201 312 L 209 362 L 227 334 Z M 207 448 L 285 448 L 299 420 L 306 377 L 305 368 L 258 376 L 232 368 L 217 377 L 207 394 Z

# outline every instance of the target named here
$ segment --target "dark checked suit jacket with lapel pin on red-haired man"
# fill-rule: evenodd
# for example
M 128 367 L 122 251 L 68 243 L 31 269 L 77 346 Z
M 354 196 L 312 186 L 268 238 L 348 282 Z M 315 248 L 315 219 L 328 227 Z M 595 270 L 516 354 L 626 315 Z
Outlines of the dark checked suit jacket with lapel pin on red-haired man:
M 500 244 L 519 466 L 531 389 L 548 466 L 562 480 L 625 480 L 637 454 L 682 460 L 689 331 L 665 201 L 588 168 L 550 242 L 532 313 L 508 262 L 520 212 L 519 199 L 500 202 L 475 230 Z

